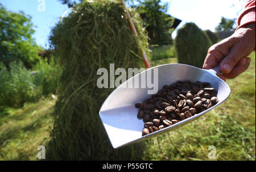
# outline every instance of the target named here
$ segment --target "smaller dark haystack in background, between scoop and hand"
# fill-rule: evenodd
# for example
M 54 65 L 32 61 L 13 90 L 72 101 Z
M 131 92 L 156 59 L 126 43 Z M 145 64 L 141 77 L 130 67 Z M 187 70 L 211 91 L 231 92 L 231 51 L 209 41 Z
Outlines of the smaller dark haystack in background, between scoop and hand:
M 210 45 L 212 42 L 205 32 L 195 23 L 186 23 L 175 39 L 178 62 L 201 68 Z

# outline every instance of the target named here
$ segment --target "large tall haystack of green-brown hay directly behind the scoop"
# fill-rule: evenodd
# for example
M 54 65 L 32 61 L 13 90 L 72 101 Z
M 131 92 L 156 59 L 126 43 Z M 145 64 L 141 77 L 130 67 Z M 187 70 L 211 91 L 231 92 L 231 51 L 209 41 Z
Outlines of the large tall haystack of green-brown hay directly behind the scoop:
M 64 66 L 47 150 L 51 160 L 134 160 L 141 144 L 113 149 L 98 116 L 113 89 L 98 89 L 99 68 L 146 68 L 147 35 L 139 15 L 130 11 L 141 45 L 130 30 L 119 1 L 85 1 L 53 28 L 50 40 Z M 122 98 L 120 98 L 122 99 Z M 142 143 L 143 144 L 143 143 Z

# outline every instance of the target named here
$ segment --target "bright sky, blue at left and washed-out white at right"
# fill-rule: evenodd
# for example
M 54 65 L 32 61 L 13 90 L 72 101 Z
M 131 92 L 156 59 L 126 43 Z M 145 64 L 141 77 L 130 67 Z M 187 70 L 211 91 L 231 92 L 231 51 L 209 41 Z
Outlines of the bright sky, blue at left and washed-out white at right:
M 45 11 L 40 11 L 43 10 L 40 8 L 43 1 L 45 2 Z M 178 28 L 186 22 L 194 22 L 203 30 L 214 31 L 221 16 L 237 18 L 242 10 L 244 0 L 162 0 L 162 2 L 170 3 L 168 14 L 183 20 Z M 36 26 L 33 37 L 36 43 L 44 48 L 49 45 L 48 36 L 51 28 L 68 10 L 67 5 L 62 5 L 58 0 L 0 0 L 0 3 L 7 10 L 24 11 L 32 16 L 32 23 Z M 176 36 L 176 31 L 172 36 Z

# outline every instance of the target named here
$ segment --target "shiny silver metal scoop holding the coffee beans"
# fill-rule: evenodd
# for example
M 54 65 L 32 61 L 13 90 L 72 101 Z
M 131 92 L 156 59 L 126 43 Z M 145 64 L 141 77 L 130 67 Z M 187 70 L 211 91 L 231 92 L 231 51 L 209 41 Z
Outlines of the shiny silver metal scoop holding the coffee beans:
M 145 88 L 129 89 L 126 86 L 134 81 L 142 83 L 142 80 L 146 78 L 141 76 L 145 74 L 145 72 L 152 72 L 151 70 L 155 69 L 158 69 L 158 90 L 162 89 L 164 85 L 171 85 L 177 81 L 209 82 L 211 86 L 217 90 L 218 103 L 191 118 L 182 120 L 179 123 L 160 129 L 146 136 L 142 136 L 144 122 L 137 118 L 138 108 L 135 108 L 135 103 L 141 103 L 149 99 L 152 95 L 148 94 L 148 90 L 151 88 L 146 85 Z M 123 82 L 109 95 L 102 104 L 99 112 L 100 119 L 106 129 L 106 133 L 108 134 L 113 148 L 119 148 L 134 142 L 146 140 L 164 132 L 170 132 L 180 128 L 220 105 L 229 97 L 230 87 L 226 82 L 217 77 L 218 73 L 220 73 L 219 68 L 205 70 L 184 64 L 164 64 L 147 69 L 127 79 L 127 81 Z

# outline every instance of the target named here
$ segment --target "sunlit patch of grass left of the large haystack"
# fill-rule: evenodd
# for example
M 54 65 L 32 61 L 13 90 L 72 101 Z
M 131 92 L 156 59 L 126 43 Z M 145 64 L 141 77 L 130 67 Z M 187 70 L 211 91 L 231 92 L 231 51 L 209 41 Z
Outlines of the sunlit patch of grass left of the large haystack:
M 36 160 L 38 146 L 47 149 L 55 99 L 41 99 L 22 108 L 0 108 L 0 160 Z

